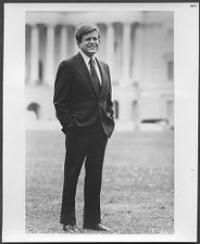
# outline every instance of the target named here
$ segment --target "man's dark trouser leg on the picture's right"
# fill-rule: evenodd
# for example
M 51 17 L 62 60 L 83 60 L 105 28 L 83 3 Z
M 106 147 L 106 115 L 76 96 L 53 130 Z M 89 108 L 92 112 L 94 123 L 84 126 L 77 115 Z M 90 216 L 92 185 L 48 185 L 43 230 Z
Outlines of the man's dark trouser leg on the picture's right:
M 100 124 L 97 124 L 93 129 L 92 140 L 88 156 L 85 163 L 85 207 L 84 207 L 84 227 L 93 226 L 101 222 L 100 210 L 100 191 L 102 181 L 102 168 L 104 151 L 108 142 Z

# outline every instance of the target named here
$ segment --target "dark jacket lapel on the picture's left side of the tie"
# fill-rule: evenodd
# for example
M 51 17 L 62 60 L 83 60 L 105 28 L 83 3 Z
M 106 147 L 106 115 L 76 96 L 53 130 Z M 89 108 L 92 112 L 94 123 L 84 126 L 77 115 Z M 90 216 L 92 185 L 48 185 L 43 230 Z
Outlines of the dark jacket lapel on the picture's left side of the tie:
M 90 73 L 89 73 L 89 70 L 86 66 L 86 63 L 80 53 L 77 54 L 77 65 L 75 68 L 82 75 L 82 77 L 85 79 L 85 84 L 91 90 L 91 92 L 95 93 L 96 95 L 98 95 L 96 92 L 96 89 L 93 87 L 93 82 L 91 80 Z

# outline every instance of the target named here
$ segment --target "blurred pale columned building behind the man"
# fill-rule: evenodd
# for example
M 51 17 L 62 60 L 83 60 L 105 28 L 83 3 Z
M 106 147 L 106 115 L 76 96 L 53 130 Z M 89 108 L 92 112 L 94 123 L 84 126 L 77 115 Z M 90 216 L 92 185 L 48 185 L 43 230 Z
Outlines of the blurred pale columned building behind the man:
M 26 12 L 27 127 L 55 125 L 61 61 L 78 52 L 75 28 L 98 25 L 98 57 L 111 68 L 116 130 L 174 127 L 174 15 L 165 11 Z M 49 126 L 50 127 L 50 126 Z

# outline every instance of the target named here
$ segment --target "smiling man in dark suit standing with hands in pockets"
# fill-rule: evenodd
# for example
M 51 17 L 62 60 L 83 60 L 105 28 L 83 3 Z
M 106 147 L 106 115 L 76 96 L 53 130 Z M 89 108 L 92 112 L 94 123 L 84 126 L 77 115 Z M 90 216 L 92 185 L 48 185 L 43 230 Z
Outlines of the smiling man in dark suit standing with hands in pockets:
M 76 29 L 78 54 L 61 62 L 53 103 L 66 134 L 61 220 L 64 231 L 77 231 L 76 185 L 85 162 L 84 229 L 108 231 L 101 223 L 100 191 L 104 151 L 114 129 L 109 66 L 95 54 L 100 34 L 92 24 Z

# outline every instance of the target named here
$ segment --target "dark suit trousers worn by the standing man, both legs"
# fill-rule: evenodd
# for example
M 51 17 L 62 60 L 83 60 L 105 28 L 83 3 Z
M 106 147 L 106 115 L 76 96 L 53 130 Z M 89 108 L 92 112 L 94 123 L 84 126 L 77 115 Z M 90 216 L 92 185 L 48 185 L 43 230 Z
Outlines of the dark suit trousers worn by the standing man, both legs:
M 100 192 L 107 142 L 100 119 L 88 127 L 75 126 L 66 136 L 61 223 L 76 224 L 76 187 L 84 163 L 84 226 L 101 222 Z

